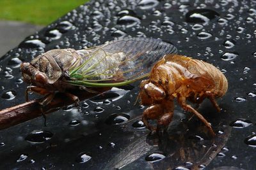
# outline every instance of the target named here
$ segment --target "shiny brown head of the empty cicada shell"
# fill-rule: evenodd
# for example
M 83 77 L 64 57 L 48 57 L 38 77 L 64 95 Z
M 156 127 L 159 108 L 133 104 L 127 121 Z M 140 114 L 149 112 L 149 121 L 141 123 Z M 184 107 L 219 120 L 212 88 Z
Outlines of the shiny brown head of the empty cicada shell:
M 163 88 L 150 80 L 143 80 L 140 84 L 141 104 L 150 105 L 162 101 L 166 97 Z

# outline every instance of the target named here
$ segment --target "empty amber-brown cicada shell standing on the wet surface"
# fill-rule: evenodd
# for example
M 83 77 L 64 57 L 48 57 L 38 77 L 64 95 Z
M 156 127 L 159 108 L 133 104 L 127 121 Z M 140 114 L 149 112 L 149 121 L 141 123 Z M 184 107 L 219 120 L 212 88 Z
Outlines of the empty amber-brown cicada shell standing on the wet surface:
M 211 124 L 186 103 L 200 104 L 205 98 L 210 99 L 213 106 L 220 111 L 215 99 L 223 96 L 228 89 L 228 82 L 223 73 L 216 67 L 202 60 L 182 55 L 165 55 L 153 67 L 148 80 L 140 84 L 141 104 L 150 105 L 143 112 L 143 122 L 150 131 L 166 128 L 173 117 L 173 100 L 186 111 L 191 111 L 209 129 Z M 148 124 L 148 120 L 157 120 L 157 127 Z

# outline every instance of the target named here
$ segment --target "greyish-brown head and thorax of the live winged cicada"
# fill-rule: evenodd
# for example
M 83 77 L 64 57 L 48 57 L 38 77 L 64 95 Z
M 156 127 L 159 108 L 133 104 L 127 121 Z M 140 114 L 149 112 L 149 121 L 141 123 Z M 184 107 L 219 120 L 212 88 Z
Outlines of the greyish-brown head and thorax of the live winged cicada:
M 64 91 L 72 88 L 66 81 L 68 70 L 79 66 L 82 60 L 74 49 L 56 49 L 38 55 L 30 63 L 22 63 L 20 68 L 27 83 L 47 90 Z

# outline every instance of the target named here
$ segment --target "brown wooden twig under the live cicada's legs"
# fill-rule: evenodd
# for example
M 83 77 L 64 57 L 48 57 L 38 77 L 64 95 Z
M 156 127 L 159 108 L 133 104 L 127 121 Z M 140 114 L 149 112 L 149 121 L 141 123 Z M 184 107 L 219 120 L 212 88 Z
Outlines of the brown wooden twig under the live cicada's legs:
M 100 88 L 95 90 L 97 90 L 97 92 L 99 92 L 98 94 L 100 94 L 106 92 L 107 90 L 110 90 L 110 88 Z M 72 94 L 79 97 L 80 101 L 98 95 L 96 93 L 90 93 L 85 91 L 75 91 L 72 92 Z M 39 104 L 39 101 L 40 99 L 36 99 L 33 101 L 19 104 L 17 106 L 13 106 L 11 108 L 1 110 L 0 130 L 42 116 L 42 106 Z M 44 107 L 44 114 L 51 113 L 52 111 L 58 110 L 58 108 L 60 107 L 67 106 L 72 103 L 74 103 L 74 101 L 68 99 L 68 97 L 64 94 L 56 94 L 56 97 L 54 97 L 52 102 L 48 104 L 46 107 Z

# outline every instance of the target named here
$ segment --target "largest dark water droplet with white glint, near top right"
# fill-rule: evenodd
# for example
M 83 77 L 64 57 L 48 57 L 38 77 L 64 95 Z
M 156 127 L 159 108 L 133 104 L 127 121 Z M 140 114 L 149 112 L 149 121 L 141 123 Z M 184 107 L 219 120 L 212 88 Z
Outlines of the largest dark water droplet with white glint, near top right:
M 186 22 L 207 23 L 218 16 L 220 16 L 220 14 L 213 10 L 195 9 L 186 13 Z

